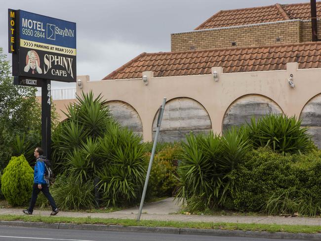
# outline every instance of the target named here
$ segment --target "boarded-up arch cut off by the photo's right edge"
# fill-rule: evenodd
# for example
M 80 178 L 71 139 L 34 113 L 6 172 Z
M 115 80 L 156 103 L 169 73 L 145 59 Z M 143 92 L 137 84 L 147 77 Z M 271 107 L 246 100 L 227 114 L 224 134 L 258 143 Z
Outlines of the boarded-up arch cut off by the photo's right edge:
M 312 140 L 321 149 L 321 93 L 313 97 L 303 107 L 300 119 L 301 125 L 309 127 Z

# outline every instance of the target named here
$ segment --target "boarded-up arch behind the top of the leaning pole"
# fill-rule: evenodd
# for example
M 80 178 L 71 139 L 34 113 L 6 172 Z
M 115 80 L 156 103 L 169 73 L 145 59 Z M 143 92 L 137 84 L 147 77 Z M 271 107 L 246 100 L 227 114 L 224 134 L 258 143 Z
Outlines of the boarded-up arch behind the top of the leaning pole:
M 153 140 L 157 129 L 159 111 L 153 122 Z M 186 97 L 166 102 L 158 141 L 173 142 L 185 139 L 190 131 L 207 133 L 212 123 L 205 108 L 196 100 Z

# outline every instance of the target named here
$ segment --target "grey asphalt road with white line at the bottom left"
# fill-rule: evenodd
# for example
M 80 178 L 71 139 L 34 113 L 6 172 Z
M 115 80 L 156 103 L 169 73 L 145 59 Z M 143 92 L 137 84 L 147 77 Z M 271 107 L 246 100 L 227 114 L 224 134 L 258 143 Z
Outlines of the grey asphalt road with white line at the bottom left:
M 0 226 L 0 241 L 280 241 L 256 238 L 58 230 Z M 294 240 L 292 240 L 294 241 Z

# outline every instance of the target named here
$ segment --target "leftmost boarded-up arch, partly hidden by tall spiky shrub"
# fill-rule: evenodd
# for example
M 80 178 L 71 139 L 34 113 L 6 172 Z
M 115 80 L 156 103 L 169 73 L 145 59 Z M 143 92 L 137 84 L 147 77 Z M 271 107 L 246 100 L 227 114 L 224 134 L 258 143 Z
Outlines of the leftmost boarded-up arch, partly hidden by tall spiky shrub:
M 120 100 L 108 101 L 106 104 L 122 126 L 127 126 L 133 132 L 143 136 L 143 123 L 131 105 Z

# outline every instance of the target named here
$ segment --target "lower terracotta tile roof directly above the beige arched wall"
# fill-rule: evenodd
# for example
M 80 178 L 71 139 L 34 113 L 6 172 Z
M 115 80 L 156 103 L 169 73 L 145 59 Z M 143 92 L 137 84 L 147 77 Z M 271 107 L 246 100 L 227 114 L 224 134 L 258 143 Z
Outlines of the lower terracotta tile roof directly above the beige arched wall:
M 321 68 L 321 42 L 142 53 L 103 80 L 142 78 L 143 71 L 154 71 L 154 77 L 203 75 L 217 66 L 224 73 L 284 70 L 288 62 L 298 62 L 300 69 Z

